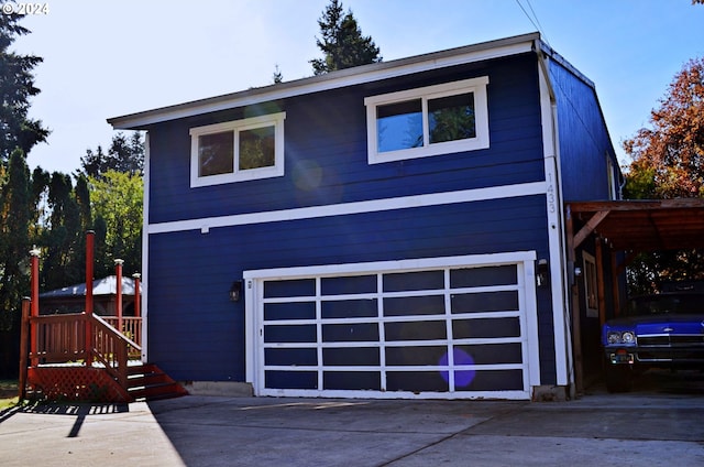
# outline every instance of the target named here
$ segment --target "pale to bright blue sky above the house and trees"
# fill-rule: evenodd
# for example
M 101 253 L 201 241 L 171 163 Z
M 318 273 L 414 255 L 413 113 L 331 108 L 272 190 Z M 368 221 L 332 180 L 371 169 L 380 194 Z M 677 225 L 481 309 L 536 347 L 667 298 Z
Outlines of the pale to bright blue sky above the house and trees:
M 10 0 L 0 0 L 4 4 Z M 30 117 L 52 133 L 30 169 L 73 173 L 108 149 L 107 119 L 312 76 L 329 0 L 46 0 L 12 50 L 44 58 Z M 594 82 L 612 142 L 649 124 L 674 75 L 704 56 L 691 0 L 342 0 L 385 62 L 539 31 Z

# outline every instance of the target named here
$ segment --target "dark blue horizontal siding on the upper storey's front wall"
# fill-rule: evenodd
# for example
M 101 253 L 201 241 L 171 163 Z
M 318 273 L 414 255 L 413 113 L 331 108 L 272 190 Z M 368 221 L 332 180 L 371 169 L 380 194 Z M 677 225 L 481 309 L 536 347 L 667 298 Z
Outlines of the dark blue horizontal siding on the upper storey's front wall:
M 490 77 L 488 149 L 369 165 L 364 97 L 474 76 Z M 189 188 L 189 129 L 241 118 L 250 109 L 152 128 L 150 222 L 544 180 L 534 54 L 298 96 L 272 106 L 286 111 L 283 177 Z

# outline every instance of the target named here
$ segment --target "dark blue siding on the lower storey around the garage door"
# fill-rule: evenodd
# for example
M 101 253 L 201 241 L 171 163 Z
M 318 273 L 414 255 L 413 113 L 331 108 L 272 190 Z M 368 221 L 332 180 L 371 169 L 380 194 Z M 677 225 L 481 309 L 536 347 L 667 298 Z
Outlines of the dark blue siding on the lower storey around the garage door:
M 546 216 L 544 196 L 528 196 L 152 235 L 150 360 L 179 380 L 243 381 L 244 304 L 228 291 L 245 270 L 524 250 L 542 258 Z M 540 333 L 548 351 L 552 329 Z

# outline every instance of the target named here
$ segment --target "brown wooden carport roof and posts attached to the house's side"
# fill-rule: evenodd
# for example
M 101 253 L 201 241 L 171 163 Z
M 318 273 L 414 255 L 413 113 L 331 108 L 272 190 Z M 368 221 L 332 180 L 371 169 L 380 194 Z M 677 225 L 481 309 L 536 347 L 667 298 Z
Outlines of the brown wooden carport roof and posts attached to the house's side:
M 605 252 L 610 254 L 610 276 L 618 278 L 640 252 L 704 248 L 704 199 L 701 198 L 566 203 L 565 219 L 571 268 L 574 268 L 578 249 L 594 237 L 600 324 L 606 319 Z M 570 285 L 574 379 L 579 393 L 583 390 L 580 294 L 575 280 Z M 618 281 L 614 279 L 608 285 L 614 303 L 620 303 Z

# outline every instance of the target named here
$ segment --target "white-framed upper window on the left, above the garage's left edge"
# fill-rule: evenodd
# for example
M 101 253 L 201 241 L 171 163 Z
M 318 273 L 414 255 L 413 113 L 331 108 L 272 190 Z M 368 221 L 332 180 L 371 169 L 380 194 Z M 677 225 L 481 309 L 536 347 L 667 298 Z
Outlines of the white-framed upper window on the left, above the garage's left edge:
M 286 112 L 190 129 L 190 186 L 284 175 Z

